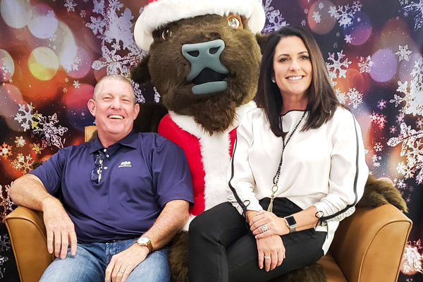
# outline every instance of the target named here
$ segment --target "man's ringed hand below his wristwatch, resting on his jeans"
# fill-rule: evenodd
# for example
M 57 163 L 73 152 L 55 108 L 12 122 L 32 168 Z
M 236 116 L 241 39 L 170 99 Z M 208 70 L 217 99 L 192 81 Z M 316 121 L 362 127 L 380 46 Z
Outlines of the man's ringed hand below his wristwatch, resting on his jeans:
M 105 282 L 125 282 L 129 274 L 138 266 L 149 253 L 147 246 L 134 244 L 128 249 L 111 257 L 106 268 Z

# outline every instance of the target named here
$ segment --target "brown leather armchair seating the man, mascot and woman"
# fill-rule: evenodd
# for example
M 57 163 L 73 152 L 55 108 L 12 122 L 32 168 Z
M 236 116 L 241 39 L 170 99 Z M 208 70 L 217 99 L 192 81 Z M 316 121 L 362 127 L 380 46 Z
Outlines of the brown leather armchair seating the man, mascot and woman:
M 95 126 L 85 129 L 85 140 Z M 42 212 L 18 207 L 6 216 L 20 281 L 38 281 L 54 256 L 47 252 Z M 412 221 L 392 204 L 357 207 L 341 221 L 329 252 L 319 260 L 328 282 L 397 281 Z

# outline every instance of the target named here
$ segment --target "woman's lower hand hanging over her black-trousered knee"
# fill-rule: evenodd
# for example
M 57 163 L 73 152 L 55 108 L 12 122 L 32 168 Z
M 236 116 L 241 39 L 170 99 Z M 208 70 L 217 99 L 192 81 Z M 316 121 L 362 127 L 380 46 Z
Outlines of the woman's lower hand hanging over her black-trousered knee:
M 285 246 L 282 238 L 278 235 L 270 235 L 266 238 L 257 239 L 257 251 L 259 252 L 259 269 L 265 271 L 274 270 L 285 259 Z

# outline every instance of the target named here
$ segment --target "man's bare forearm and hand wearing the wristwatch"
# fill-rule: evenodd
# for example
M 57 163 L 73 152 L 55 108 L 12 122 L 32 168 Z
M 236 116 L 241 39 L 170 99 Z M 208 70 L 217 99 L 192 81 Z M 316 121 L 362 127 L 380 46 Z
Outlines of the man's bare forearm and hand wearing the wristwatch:
M 188 221 L 189 203 L 185 200 L 167 202 L 157 221 L 143 236 L 148 237 L 153 250 L 159 250 L 169 243 Z M 135 267 L 149 254 L 147 246 L 134 244 L 113 257 L 106 268 L 106 282 L 125 282 Z M 124 271 L 124 272 L 122 272 Z

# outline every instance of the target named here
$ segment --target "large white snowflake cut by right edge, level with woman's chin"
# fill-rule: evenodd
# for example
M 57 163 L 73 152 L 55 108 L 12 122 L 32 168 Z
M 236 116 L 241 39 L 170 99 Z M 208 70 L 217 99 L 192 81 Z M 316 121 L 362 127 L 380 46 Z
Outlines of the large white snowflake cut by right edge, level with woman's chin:
M 400 97 L 394 94 L 394 99 L 389 102 L 395 103 L 397 107 L 401 102 L 405 102 L 403 106 L 404 114 L 412 114 L 413 116 L 423 116 L 423 58 L 420 57 L 415 62 L 415 67 L 411 73 L 413 79 L 408 87 L 408 81 L 400 82 L 398 80 L 398 88 L 396 91 L 405 94 Z

